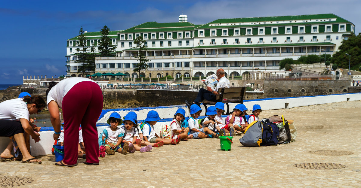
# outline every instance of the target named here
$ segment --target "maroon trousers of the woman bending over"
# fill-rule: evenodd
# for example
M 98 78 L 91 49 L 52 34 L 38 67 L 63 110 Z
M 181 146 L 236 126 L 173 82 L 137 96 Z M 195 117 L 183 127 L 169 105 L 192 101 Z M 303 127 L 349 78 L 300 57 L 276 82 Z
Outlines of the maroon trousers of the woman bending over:
M 62 102 L 64 117 L 64 163 L 78 160 L 79 127 L 82 125 L 86 162 L 97 163 L 99 145 L 96 121 L 103 109 L 103 94 L 98 84 L 83 81 L 66 93 Z

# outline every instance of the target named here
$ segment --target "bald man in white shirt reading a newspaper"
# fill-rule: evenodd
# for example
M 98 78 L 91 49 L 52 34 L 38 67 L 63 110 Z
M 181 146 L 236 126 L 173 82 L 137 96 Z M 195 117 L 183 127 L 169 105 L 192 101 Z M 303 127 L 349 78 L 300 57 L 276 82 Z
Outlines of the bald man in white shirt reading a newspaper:
M 219 94 L 217 92 L 218 88 L 230 88 L 230 82 L 226 78 L 225 71 L 222 68 L 217 70 L 216 75 L 217 75 L 217 81 L 218 81 L 216 88 L 214 88 L 214 85 L 215 85 L 214 82 L 212 85 L 212 83 L 210 83 L 209 80 L 204 81 L 203 83 L 205 83 L 207 85 L 207 89 L 203 89 L 203 88 L 199 89 L 197 98 L 194 99 L 193 104 L 197 104 L 198 106 L 200 106 L 200 103 L 204 99 L 206 99 L 208 101 L 215 101 L 216 95 Z M 209 86 L 208 86 L 208 84 L 209 84 Z M 214 89 L 212 89 L 212 88 L 214 88 Z M 186 100 L 186 105 L 188 106 L 188 108 L 190 108 L 192 103 L 189 103 Z

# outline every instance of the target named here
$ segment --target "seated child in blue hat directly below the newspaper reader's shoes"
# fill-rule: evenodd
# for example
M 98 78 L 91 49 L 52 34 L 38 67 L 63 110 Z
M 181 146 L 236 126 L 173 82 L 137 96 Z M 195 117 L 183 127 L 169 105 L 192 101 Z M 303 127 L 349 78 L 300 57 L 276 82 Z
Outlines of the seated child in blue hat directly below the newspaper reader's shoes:
M 200 128 L 198 121 L 196 120 L 202 112 L 202 109 L 197 104 L 192 104 L 190 107 L 191 117 L 188 119 L 188 127 L 193 135 L 193 138 L 208 138 L 208 135 L 204 131 L 203 127 Z

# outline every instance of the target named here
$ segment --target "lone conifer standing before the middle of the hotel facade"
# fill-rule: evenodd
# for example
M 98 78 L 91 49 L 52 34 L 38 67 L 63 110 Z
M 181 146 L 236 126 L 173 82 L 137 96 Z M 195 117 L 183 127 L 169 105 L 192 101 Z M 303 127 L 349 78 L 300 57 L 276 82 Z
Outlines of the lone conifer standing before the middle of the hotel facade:
M 138 50 L 138 55 L 136 56 L 136 58 L 138 58 L 138 62 L 139 63 L 134 63 L 134 66 L 136 67 L 133 71 L 134 72 L 138 72 L 138 75 L 140 75 L 140 71 L 141 70 L 147 70 L 147 68 L 149 67 L 149 65 L 147 64 L 147 62 L 149 62 L 150 60 L 147 59 L 147 46 L 144 45 L 145 40 L 143 39 L 142 36 L 136 37 L 136 39 L 134 40 L 133 44 L 136 45 L 136 47 L 133 48 L 139 48 Z

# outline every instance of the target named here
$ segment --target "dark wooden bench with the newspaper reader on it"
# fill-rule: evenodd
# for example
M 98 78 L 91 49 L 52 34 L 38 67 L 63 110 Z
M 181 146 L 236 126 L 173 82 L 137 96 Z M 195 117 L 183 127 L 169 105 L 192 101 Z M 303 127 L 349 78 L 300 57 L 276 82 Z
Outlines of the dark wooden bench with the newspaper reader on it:
M 233 111 L 229 112 L 229 105 L 228 103 L 241 103 L 243 104 L 243 98 L 246 93 L 246 87 L 234 87 L 234 88 L 219 88 L 218 95 L 216 95 L 216 101 L 208 101 L 204 100 L 203 106 L 205 108 L 205 112 L 207 112 L 207 104 L 215 105 L 217 102 L 226 103 L 227 105 L 227 112 L 225 115 L 230 115 Z M 239 97 L 240 99 L 230 99 Z M 226 99 L 226 100 L 223 100 Z

